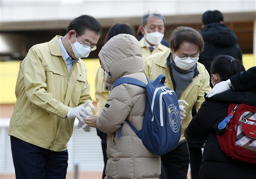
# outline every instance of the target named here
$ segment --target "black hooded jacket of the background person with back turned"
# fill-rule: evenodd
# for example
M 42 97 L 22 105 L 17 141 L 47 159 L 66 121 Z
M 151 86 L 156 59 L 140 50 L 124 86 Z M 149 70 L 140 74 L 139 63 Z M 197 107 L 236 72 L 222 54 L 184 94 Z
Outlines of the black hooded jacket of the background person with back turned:
M 225 24 L 207 24 L 200 31 L 204 39 L 204 52 L 199 56 L 198 62 L 204 64 L 210 74 L 212 60 L 218 55 L 229 55 L 242 61 L 242 51 L 237 44 L 234 32 Z

